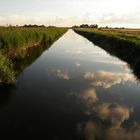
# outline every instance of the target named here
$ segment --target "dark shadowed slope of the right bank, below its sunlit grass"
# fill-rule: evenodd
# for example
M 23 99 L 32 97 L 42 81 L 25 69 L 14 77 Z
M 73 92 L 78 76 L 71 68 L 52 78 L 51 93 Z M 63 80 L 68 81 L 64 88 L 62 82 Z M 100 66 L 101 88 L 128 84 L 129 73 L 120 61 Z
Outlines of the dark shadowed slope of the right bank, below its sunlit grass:
M 117 36 L 108 36 L 98 31 L 86 29 L 73 29 L 79 35 L 87 38 L 93 44 L 107 51 L 129 64 L 133 74 L 140 80 L 140 44 L 130 40 L 120 39 Z

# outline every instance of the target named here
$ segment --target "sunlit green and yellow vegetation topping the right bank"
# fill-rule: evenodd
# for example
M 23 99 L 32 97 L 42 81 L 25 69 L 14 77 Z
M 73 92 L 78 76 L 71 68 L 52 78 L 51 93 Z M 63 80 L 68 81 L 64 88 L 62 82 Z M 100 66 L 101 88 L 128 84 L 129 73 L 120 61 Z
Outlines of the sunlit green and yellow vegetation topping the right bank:
M 77 33 L 80 33 L 84 36 L 91 37 L 95 42 L 109 43 L 111 45 L 125 45 L 125 46 L 140 46 L 140 32 L 131 31 L 127 33 L 127 30 L 124 29 L 124 32 L 117 30 L 101 30 L 101 29 L 74 29 Z M 120 32 L 119 32 L 120 31 Z

